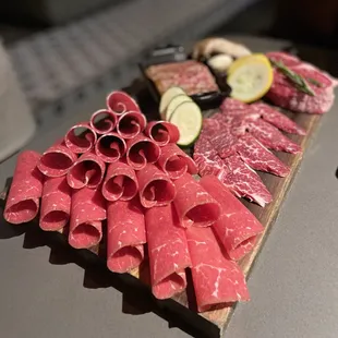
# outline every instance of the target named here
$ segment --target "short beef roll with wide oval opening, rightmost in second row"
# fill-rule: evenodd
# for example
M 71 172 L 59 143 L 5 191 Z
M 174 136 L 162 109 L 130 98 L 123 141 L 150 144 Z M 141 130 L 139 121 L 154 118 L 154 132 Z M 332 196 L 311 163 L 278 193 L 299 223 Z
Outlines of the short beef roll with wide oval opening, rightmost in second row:
M 209 227 L 220 215 L 219 204 L 185 173 L 174 181 L 177 195 L 173 200 L 182 227 Z

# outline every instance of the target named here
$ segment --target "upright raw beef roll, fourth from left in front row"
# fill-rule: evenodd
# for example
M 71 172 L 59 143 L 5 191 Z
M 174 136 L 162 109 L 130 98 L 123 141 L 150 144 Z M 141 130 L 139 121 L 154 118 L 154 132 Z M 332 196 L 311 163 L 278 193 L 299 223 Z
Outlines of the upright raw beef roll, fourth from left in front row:
M 146 243 L 145 220 L 138 198 L 109 202 L 107 209 L 107 266 L 126 273 L 140 266 Z

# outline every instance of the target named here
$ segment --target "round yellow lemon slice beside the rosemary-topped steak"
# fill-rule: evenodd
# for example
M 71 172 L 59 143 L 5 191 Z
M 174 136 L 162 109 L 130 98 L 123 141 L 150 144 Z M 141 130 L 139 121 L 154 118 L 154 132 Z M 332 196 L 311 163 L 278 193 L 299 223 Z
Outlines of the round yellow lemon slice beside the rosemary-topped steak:
M 274 71 L 264 55 L 252 55 L 234 61 L 228 71 L 231 97 L 252 102 L 263 97 L 270 88 Z

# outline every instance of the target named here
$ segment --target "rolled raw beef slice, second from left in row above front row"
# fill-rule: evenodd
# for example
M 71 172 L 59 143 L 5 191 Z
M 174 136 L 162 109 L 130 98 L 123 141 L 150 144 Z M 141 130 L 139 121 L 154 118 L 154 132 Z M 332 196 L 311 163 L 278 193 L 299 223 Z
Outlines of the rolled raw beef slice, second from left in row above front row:
M 73 189 L 95 189 L 101 183 L 105 171 L 106 164 L 92 150 L 80 156 L 67 173 L 67 181 Z

